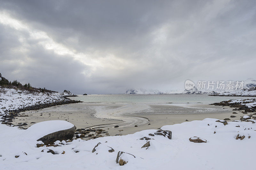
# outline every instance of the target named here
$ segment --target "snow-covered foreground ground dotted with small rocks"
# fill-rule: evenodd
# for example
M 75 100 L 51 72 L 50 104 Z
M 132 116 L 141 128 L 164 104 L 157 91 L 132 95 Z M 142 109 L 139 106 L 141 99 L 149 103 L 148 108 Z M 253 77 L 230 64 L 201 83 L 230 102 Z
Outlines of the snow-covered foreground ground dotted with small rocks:
M 228 122 L 226 125 L 217 120 L 207 118 L 163 126 L 162 130 L 172 131 L 172 139 L 151 135 L 157 130 L 145 130 L 88 141 L 57 141 L 55 144 L 60 146 L 39 148 L 24 138 L 27 130 L 0 124 L 0 167 L 12 170 L 254 169 L 255 120 Z M 34 133 L 36 135 L 40 131 L 35 130 Z M 32 135 L 29 132 L 29 136 Z M 189 138 L 204 142 L 194 143 Z M 124 166 L 119 165 L 120 159 L 125 161 L 121 161 Z

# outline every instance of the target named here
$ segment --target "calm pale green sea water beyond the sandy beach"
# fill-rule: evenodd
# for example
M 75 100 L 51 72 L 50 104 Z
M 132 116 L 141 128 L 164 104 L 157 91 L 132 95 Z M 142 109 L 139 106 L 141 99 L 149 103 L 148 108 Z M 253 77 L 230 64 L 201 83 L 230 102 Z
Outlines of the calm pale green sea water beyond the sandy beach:
M 209 96 L 209 95 L 79 95 L 69 97 L 86 103 L 217 103 L 229 99 L 255 97 Z

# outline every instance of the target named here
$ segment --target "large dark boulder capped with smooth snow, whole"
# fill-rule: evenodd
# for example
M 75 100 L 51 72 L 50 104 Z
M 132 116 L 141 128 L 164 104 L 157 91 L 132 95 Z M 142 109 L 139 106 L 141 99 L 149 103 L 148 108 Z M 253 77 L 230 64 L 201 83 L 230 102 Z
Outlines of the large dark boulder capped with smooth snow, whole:
M 27 138 L 53 144 L 57 140 L 72 139 L 76 126 L 64 120 L 50 120 L 33 124 L 26 131 Z

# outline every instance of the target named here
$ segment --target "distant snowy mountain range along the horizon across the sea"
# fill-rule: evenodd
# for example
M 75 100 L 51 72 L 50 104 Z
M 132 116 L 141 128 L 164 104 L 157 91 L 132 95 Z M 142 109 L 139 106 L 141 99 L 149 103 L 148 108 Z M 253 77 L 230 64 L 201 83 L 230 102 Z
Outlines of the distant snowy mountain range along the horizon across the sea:
M 198 90 L 195 86 L 190 90 L 160 91 L 154 89 L 128 89 L 124 94 L 211 94 L 220 96 L 255 96 L 256 80 L 249 78 L 244 81 L 243 89 L 235 90 Z

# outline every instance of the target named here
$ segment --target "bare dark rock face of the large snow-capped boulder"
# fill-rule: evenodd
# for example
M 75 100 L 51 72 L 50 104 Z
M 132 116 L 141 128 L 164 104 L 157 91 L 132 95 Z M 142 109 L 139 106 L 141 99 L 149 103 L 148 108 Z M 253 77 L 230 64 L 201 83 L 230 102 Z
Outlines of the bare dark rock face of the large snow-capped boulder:
M 60 141 L 65 140 L 66 141 L 68 139 L 73 138 L 75 131 L 76 131 L 76 126 L 74 125 L 70 129 L 56 131 L 56 132 L 50 133 L 48 135 L 45 135 L 44 137 L 38 139 L 37 141 L 41 140 L 42 142 L 44 142 L 44 145 L 53 144 L 57 140 L 60 140 Z

